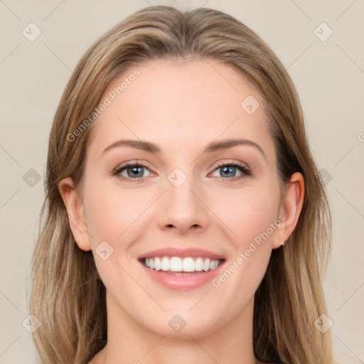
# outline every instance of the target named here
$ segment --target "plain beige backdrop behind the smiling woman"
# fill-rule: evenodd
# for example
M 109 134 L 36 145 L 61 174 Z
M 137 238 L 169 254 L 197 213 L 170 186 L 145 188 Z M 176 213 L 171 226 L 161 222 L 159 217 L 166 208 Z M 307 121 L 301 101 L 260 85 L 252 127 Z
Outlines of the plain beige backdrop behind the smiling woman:
M 336 358 L 364 363 L 363 0 L 0 1 L 0 363 L 35 363 L 31 333 L 22 322 L 29 314 L 26 282 L 44 196 L 48 134 L 60 96 L 88 46 L 149 4 L 225 11 L 262 36 L 288 68 L 311 149 L 326 170 L 333 212 L 325 291 Z M 22 34 L 31 22 L 42 32 L 33 42 Z M 314 33 L 322 22 L 333 31 L 326 41 Z M 326 37 L 329 28 L 319 26 L 316 34 Z M 40 181 L 29 179 L 36 175 L 31 168 Z

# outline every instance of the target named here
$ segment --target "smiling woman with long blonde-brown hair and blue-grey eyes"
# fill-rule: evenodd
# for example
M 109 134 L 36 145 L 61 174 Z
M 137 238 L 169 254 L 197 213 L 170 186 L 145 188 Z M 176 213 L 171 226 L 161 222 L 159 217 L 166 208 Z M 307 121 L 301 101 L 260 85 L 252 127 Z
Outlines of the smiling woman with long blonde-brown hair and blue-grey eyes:
M 232 16 L 151 6 L 92 45 L 46 193 L 43 363 L 333 363 L 331 216 L 299 98 Z

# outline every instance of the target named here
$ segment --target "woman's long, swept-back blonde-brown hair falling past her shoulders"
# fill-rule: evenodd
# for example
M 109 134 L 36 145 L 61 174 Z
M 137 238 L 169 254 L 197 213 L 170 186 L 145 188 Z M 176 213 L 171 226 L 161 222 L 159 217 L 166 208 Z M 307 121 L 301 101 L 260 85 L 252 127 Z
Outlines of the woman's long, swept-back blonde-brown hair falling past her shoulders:
M 280 181 L 301 172 L 305 196 L 296 229 L 284 248 L 273 250 L 255 294 L 255 355 L 269 363 L 333 363 L 330 331 L 314 326 L 327 315 L 322 279 L 331 249 L 331 215 L 291 78 L 262 39 L 232 16 L 170 6 L 141 9 L 97 40 L 77 64 L 55 113 L 32 262 L 30 312 L 42 323 L 33 334 L 41 362 L 85 364 L 107 342 L 105 286 L 92 252 L 75 243 L 58 190 L 65 177 L 80 182 L 95 123 L 75 141 L 69 135 L 92 114 L 115 75 L 162 58 L 220 60 L 262 93 Z

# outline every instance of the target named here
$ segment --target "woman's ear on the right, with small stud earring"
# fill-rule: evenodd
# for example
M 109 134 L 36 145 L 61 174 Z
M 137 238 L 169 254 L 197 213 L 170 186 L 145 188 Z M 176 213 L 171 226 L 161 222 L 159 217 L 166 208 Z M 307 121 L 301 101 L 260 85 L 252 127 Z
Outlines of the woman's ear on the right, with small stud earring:
M 296 172 L 291 175 L 289 183 L 287 183 L 286 191 L 279 208 L 279 216 L 284 216 L 282 224 L 274 234 L 272 248 L 277 249 L 285 242 L 296 228 L 299 214 L 304 204 L 304 176 Z

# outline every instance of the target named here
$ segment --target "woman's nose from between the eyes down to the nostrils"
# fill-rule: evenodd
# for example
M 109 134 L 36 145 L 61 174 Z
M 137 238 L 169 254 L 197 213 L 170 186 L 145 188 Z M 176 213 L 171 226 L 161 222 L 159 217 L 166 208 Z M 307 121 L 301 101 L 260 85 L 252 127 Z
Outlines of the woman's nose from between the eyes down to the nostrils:
M 180 168 L 175 168 L 167 179 L 159 215 L 160 228 L 174 227 L 180 233 L 187 232 L 192 227 L 200 230 L 206 228 L 208 211 L 198 198 L 200 188 L 192 172 L 187 174 Z

